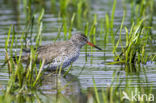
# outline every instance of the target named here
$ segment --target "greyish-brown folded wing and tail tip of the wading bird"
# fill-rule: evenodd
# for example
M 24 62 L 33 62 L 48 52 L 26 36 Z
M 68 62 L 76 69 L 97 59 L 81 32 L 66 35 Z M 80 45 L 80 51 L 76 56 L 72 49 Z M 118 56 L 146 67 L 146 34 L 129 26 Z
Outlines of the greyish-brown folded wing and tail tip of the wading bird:
M 64 45 L 66 44 L 66 45 Z M 68 52 L 67 48 L 70 47 L 71 44 L 67 41 L 63 42 L 56 42 L 51 44 L 46 44 L 44 46 L 39 46 L 37 48 L 37 63 L 40 63 L 43 59 L 45 59 L 45 64 L 48 64 L 53 61 L 54 58 L 59 56 L 62 52 Z M 36 48 L 34 48 L 36 50 Z M 26 53 L 21 57 L 22 62 L 29 62 L 30 60 L 30 49 L 24 49 L 24 52 Z

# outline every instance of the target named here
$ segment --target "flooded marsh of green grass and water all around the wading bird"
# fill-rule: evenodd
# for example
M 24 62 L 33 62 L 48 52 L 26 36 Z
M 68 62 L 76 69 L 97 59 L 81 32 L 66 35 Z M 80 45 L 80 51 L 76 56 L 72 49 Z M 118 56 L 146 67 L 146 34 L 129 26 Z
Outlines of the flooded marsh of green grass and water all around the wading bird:
M 0 3 L 0 102 L 156 101 L 154 0 Z M 79 60 L 64 70 L 43 70 L 44 61 L 37 66 L 36 48 L 68 40 L 75 32 L 83 32 L 103 50 L 86 45 Z M 27 49 L 30 61 L 23 64 Z

